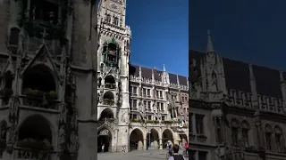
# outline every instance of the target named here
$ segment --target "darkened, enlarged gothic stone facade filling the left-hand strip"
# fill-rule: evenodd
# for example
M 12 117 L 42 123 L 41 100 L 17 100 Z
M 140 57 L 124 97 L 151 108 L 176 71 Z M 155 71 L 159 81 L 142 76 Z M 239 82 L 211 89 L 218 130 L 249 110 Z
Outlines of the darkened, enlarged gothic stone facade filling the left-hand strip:
M 0 1 L 0 159 L 97 159 L 96 1 Z

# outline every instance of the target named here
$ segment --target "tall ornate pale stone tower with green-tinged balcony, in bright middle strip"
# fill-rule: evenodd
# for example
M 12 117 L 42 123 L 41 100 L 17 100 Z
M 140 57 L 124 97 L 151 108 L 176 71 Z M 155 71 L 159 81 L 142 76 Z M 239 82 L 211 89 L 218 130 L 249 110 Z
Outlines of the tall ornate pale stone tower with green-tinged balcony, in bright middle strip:
M 130 27 L 125 26 L 125 0 L 103 0 L 98 6 L 98 145 L 117 151 L 129 147 Z M 111 122 L 107 119 L 113 119 Z M 104 121 L 109 121 L 106 124 Z M 102 132 L 101 132 L 102 131 Z M 105 139 L 103 133 L 109 134 Z M 102 136 L 102 138 L 100 138 Z M 115 139 L 114 139 L 115 137 Z

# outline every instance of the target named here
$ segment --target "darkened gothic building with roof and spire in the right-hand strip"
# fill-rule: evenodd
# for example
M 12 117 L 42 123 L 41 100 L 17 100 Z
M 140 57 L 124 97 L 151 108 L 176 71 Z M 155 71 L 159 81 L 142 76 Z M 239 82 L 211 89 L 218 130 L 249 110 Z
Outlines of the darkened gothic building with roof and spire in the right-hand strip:
M 285 159 L 286 73 L 189 52 L 190 159 Z

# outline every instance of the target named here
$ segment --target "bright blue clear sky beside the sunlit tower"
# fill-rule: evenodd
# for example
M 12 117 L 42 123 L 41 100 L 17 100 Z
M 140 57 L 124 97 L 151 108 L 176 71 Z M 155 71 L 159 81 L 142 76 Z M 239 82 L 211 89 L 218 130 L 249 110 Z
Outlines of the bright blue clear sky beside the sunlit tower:
M 174 2 L 127 0 L 130 63 L 188 76 L 189 0 Z

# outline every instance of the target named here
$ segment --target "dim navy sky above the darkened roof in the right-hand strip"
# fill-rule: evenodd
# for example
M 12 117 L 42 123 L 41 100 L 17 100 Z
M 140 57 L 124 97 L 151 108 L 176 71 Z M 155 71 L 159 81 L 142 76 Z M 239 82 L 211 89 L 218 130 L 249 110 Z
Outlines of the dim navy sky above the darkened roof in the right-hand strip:
M 189 48 L 206 51 L 209 28 L 223 57 L 286 70 L 285 0 L 190 0 Z

